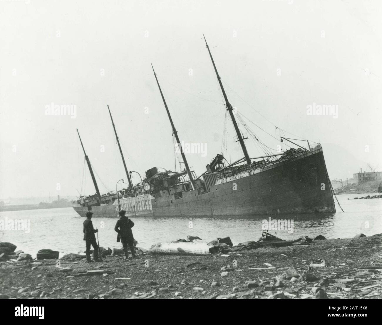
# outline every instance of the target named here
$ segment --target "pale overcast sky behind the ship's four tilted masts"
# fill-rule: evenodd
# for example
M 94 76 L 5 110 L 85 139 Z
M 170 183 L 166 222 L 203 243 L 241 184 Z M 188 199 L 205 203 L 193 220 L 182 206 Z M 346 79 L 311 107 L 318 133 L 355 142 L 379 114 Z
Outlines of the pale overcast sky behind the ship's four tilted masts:
M 320 142 L 331 179 L 381 170 L 380 17 L 379 0 L 0 1 L 0 197 L 93 194 L 76 128 L 101 192 L 115 191 L 126 176 L 107 104 L 128 169 L 173 170 L 151 63 L 180 139 L 206 144 L 187 155 L 203 173 L 222 151 L 225 106 L 202 33 L 231 104 L 269 147 L 277 126 Z M 76 105 L 75 118 L 47 115 L 52 103 Z M 307 115 L 313 103 L 338 105 L 338 118 Z M 233 136 L 228 121 L 232 162 Z

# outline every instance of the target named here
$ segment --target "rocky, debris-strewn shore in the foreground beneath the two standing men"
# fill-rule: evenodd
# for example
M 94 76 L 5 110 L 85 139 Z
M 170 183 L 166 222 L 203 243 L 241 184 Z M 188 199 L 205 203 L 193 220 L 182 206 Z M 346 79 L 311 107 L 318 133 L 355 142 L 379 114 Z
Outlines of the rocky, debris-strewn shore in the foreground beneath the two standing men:
M 90 264 L 83 254 L 25 254 L 0 262 L 0 298 L 380 299 L 382 234 L 356 237 L 281 247 L 215 243 L 206 255 L 138 250 L 127 261 L 105 250 L 102 262 Z

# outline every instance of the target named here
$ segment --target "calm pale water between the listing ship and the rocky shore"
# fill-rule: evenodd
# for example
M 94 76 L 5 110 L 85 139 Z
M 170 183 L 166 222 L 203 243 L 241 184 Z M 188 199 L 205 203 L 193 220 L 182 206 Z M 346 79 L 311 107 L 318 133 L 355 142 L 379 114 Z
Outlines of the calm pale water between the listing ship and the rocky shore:
M 288 230 L 270 230 L 277 232 L 282 239 L 296 239 L 301 236 L 322 234 L 328 239 L 351 238 L 357 233 L 367 236 L 382 233 L 382 199 L 348 200 L 367 194 L 339 195 L 338 200 L 345 212 L 322 215 L 277 215 L 272 219 L 293 219 L 293 233 Z M 372 195 L 372 194 L 371 194 Z M 254 217 L 136 217 L 133 228 L 134 238 L 140 247 L 149 248 L 161 241 L 174 241 L 187 235 L 199 236 L 208 241 L 230 236 L 233 243 L 257 240 L 262 233 L 262 220 L 269 216 Z M 2 220 L 30 220 L 30 231 L 2 229 Z M 117 218 L 93 218 L 94 228 L 99 228 L 100 245 L 118 247 L 117 233 L 114 231 Z M 73 208 L 42 209 L 0 212 L 0 241 L 8 241 L 35 256 L 39 249 L 49 248 L 62 253 L 84 251 L 84 218 Z M 191 223 L 192 222 L 192 225 Z M 192 228 L 189 228 L 191 227 Z M 367 228 L 368 226 L 368 228 Z

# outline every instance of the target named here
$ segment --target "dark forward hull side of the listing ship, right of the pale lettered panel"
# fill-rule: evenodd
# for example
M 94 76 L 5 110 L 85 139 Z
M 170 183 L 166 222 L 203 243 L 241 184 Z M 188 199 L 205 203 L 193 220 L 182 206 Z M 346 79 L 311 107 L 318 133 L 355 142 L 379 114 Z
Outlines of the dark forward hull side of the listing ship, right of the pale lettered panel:
M 321 146 L 214 182 L 216 176 L 204 176 L 204 193 L 187 191 L 176 199 L 163 191 L 151 200 L 152 211 L 147 213 L 160 217 L 335 212 Z M 121 200 L 122 206 L 129 199 Z

